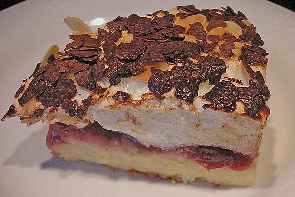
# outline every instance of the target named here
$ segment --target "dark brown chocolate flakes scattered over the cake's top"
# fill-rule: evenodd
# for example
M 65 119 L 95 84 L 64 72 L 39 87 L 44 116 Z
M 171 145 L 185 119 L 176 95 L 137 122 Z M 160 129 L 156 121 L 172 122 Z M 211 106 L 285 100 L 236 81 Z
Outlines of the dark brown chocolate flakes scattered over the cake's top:
M 152 68 L 152 76 L 148 80 L 149 90 L 159 99 L 164 99 L 163 94 L 175 90 L 178 99 L 193 103 L 198 95 L 201 82 L 209 80 L 210 85 L 215 85 L 213 89 L 203 96 L 211 104 L 203 106 L 204 109 L 211 107 L 225 111 L 235 110 L 236 101 L 241 101 L 245 105 L 246 113 L 257 116 L 257 112 L 265 105 L 270 97 L 269 90 L 264 84 L 264 79 L 259 71 L 254 72 L 251 65 L 266 64 L 268 53 L 260 48 L 263 41 L 253 25 L 247 26 L 242 20 L 247 19 L 240 11 L 235 13 L 227 6 L 218 9 L 198 10 L 193 5 L 178 6 L 179 10 L 185 13 L 177 13 L 177 17 L 185 18 L 195 14 L 203 14 L 207 17 L 207 31 L 216 27 L 226 27 L 225 21 L 233 21 L 242 28 L 242 34 L 236 38 L 230 33 L 224 33 L 221 37 L 217 35 L 207 35 L 200 22 L 189 24 L 190 28 L 174 25 L 175 16 L 167 11 L 159 10 L 149 15 L 152 18 L 140 17 L 131 14 L 128 17 L 118 16 L 113 21 L 106 24 L 108 31 L 98 29 L 97 38 L 90 35 L 70 35 L 73 40 L 67 44 L 62 59 L 56 59 L 54 55 L 47 60 L 47 66 L 40 69 L 37 64 L 33 74 L 34 77 L 29 87 L 18 99 L 21 106 L 24 106 L 30 99 L 37 99 L 46 107 L 61 106 L 70 116 L 83 117 L 89 105 L 91 97 L 82 101 L 78 106 L 77 101 L 72 100 L 76 94 L 74 80 L 67 79 L 74 75 L 79 86 L 85 87 L 94 93 L 101 94 L 105 88 L 97 86 L 99 79 L 110 78 L 110 86 L 117 85 L 121 78 L 134 77 L 147 69 L 141 64 L 147 62 L 168 62 L 175 65 L 171 71 L 162 71 Z M 161 15 L 158 15 L 161 13 Z M 163 16 L 164 15 L 164 16 Z M 120 42 L 122 31 L 127 31 L 133 35 L 130 43 Z M 179 34 L 189 34 L 196 37 L 195 42 L 184 42 L 185 37 Z M 213 43 L 210 43 L 210 42 Z M 219 41 L 225 41 L 218 45 Z M 224 57 L 234 55 L 232 49 L 235 48 L 233 42 L 251 42 L 244 44 L 241 48 L 239 60 L 244 64 L 249 76 L 249 87 L 236 88 L 232 82 L 242 84 L 241 80 L 225 77 L 220 82 L 221 75 L 225 73 L 226 65 L 220 54 L 213 50 L 219 47 Z M 102 53 L 103 51 L 103 53 Z M 201 53 L 208 56 L 201 56 Z M 198 60 L 197 63 L 190 61 L 190 58 Z M 178 66 L 181 63 L 184 66 Z M 232 82 L 231 82 L 232 81 Z M 22 85 L 15 94 L 17 98 L 24 90 Z M 117 92 L 112 96 L 116 101 L 126 102 L 130 95 L 124 92 Z M 9 108 L 9 113 L 15 113 L 14 106 Z M 8 116 L 8 115 L 5 116 Z M 41 116 L 43 110 L 33 112 L 32 116 Z M 5 117 L 4 116 L 4 117 Z M 3 118 L 4 118 L 3 117 Z

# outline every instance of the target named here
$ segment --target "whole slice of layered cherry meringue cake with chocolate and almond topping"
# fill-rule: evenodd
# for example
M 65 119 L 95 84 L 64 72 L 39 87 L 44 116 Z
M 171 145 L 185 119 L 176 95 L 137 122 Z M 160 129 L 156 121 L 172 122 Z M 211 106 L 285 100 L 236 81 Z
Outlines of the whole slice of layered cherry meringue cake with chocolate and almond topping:
M 244 14 L 178 6 L 94 33 L 65 22 L 73 41 L 48 50 L 2 120 L 47 122 L 47 146 L 69 161 L 253 185 L 270 113 L 268 53 Z

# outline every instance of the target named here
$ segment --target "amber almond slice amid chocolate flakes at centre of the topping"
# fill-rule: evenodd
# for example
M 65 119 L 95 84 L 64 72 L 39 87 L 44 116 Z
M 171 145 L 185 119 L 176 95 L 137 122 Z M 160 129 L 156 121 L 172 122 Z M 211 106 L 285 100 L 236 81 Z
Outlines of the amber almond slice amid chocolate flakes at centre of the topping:
M 148 79 L 152 75 L 151 73 L 152 67 L 163 70 L 163 71 L 168 70 L 169 68 L 169 65 L 167 64 L 167 62 L 148 62 L 148 63 L 142 64 L 142 66 L 147 68 L 147 70 L 134 77 L 134 79 L 137 81 L 148 81 Z

